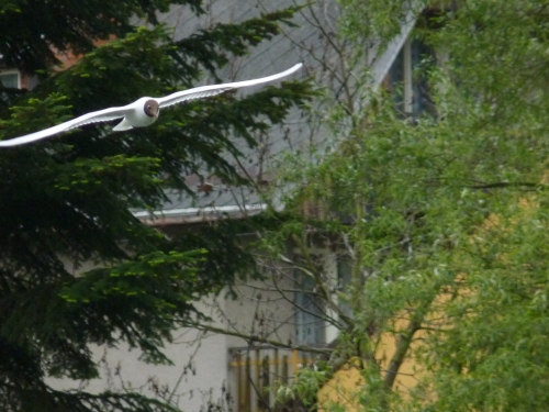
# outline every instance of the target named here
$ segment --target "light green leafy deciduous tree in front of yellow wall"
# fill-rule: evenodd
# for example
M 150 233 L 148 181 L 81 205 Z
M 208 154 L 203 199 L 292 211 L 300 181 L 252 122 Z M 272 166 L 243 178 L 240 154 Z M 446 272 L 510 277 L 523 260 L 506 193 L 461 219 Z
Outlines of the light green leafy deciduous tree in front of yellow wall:
M 424 56 L 418 71 L 436 111 L 412 118 L 373 90 L 366 111 L 339 102 L 333 124 L 348 131 L 345 142 L 320 166 L 292 159 L 283 187 L 296 189 L 280 229 L 264 231 L 266 249 L 285 253 L 281 240 L 300 249 L 294 267 L 340 329 L 333 368 L 362 359 L 361 410 L 542 411 L 549 9 L 538 0 L 341 4 L 340 34 L 356 47 L 371 36 L 388 44 L 403 11 L 427 8 L 414 36 L 435 51 L 438 67 Z M 316 213 L 304 214 L 311 205 Z M 341 292 L 310 252 L 322 246 L 350 264 Z M 411 359 L 415 383 L 404 394 L 397 381 Z M 311 374 L 293 392 L 310 404 L 309 383 L 316 390 L 320 379 Z

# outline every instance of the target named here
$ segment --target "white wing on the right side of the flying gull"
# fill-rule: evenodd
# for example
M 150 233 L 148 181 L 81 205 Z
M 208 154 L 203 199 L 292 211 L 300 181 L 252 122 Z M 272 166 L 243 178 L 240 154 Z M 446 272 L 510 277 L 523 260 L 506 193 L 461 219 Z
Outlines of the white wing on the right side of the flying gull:
M 301 63 L 299 63 L 295 66 L 289 68 L 288 70 L 279 73 L 277 75 L 261 77 L 259 79 L 254 79 L 254 80 L 236 81 L 233 83 L 197 87 L 194 89 L 175 92 L 172 94 L 166 96 L 165 98 L 155 98 L 155 100 L 158 102 L 160 108 L 167 108 L 168 105 L 181 103 L 181 102 L 184 102 L 188 100 L 201 99 L 201 98 L 205 98 L 209 96 L 220 94 L 220 93 L 223 93 L 224 91 L 227 91 L 231 89 L 238 89 L 242 87 L 249 87 L 249 86 L 266 83 L 269 81 L 274 81 L 274 80 L 281 79 L 282 77 L 289 76 L 292 73 L 299 70 L 301 68 L 301 66 L 303 66 L 303 65 Z

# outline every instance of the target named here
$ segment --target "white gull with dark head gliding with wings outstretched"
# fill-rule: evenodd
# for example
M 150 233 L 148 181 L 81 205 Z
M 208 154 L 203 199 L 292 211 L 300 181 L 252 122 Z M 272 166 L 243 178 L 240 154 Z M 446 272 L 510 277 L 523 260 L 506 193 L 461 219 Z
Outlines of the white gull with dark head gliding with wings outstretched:
M 141 98 L 133 103 L 123 105 L 120 108 L 110 108 L 104 110 L 99 110 L 97 112 L 91 112 L 83 114 L 79 118 L 69 120 L 68 122 L 58 124 L 53 127 L 45 129 L 40 132 L 31 133 L 25 136 L 10 138 L 8 141 L 0 141 L 0 147 L 18 146 L 34 141 L 40 141 L 41 138 L 49 137 L 58 133 L 67 132 L 71 129 L 81 126 L 88 123 L 98 122 L 109 122 L 115 119 L 122 119 L 116 126 L 113 127 L 115 132 L 122 132 L 133 127 L 145 127 L 153 124 L 160 113 L 160 109 L 167 108 L 169 105 L 181 103 L 188 100 L 206 98 L 210 96 L 215 96 L 223 93 L 224 91 L 238 89 L 242 87 L 261 85 L 269 81 L 278 80 L 282 77 L 289 76 L 292 73 L 299 70 L 303 66 L 301 63 L 295 66 L 279 73 L 277 75 L 261 77 L 254 80 L 236 81 L 232 83 L 223 85 L 212 85 L 197 87 L 190 90 L 177 91 L 172 94 L 166 96 L 164 98 Z

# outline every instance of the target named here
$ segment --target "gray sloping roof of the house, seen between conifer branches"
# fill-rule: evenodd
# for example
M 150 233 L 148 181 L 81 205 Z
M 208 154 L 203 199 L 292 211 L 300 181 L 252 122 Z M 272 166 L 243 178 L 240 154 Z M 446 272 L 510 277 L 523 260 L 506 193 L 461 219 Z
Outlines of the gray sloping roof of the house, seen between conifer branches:
M 314 77 L 320 86 L 332 90 L 336 96 L 339 82 L 337 73 L 348 70 L 343 68 L 338 54 L 329 47 L 329 36 L 333 35 L 337 10 L 335 0 L 318 0 L 311 9 L 303 9 L 294 20 L 296 26 L 283 27 L 283 34 L 273 40 L 264 42 L 255 47 L 249 56 L 234 58 L 220 74 L 226 81 L 237 81 L 269 76 L 282 71 L 294 64 L 302 62 L 304 67 L 292 78 Z M 160 21 L 175 27 L 175 37 L 182 38 L 198 30 L 206 29 L 215 23 L 239 23 L 258 16 L 260 13 L 280 10 L 295 5 L 293 0 L 211 0 L 205 16 L 197 18 L 190 12 L 188 5 L 173 5 L 170 12 L 164 14 Z M 370 44 L 369 53 L 363 62 L 371 66 L 371 81 L 379 85 L 397 52 L 405 42 L 414 25 L 412 13 L 403 25 L 400 36 L 389 45 L 382 55 L 377 55 L 376 44 Z M 320 62 L 322 60 L 322 63 Z M 322 65 L 327 65 L 330 70 L 325 70 Z M 204 83 L 211 83 L 208 77 Z M 199 86 L 199 85 L 197 85 Z M 244 91 L 253 92 L 247 89 Z M 243 91 L 240 91 L 243 93 Z M 356 98 L 360 107 L 360 97 Z M 295 109 L 288 116 L 282 126 L 273 126 L 267 135 L 258 136 L 260 144 L 255 149 L 237 143 L 237 147 L 246 156 L 246 172 L 257 178 L 261 171 L 261 179 L 272 179 L 279 162 L 284 153 L 307 149 L 310 145 L 329 146 L 334 133 L 328 132 L 322 121 L 322 102 L 316 105 L 316 111 L 311 114 Z M 337 137 L 337 136 L 336 136 Z M 208 176 L 206 174 L 204 174 Z M 152 224 L 191 223 L 223 216 L 239 218 L 256 214 L 265 209 L 260 196 L 249 188 L 227 187 L 220 181 L 205 180 L 198 176 L 190 176 L 187 181 L 191 188 L 197 189 L 197 197 L 189 193 L 169 192 L 169 202 L 163 210 L 136 212 L 135 215 Z M 282 204 L 279 204 L 281 208 Z

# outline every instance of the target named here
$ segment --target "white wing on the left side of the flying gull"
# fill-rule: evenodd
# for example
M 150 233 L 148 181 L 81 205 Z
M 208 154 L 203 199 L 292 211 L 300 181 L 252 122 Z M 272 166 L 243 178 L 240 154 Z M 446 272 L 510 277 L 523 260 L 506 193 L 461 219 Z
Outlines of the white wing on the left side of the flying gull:
M 97 112 L 83 114 L 79 118 L 69 120 L 68 122 L 58 124 L 53 127 L 44 129 L 40 132 L 31 133 L 21 137 L 10 138 L 8 141 L 0 141 L 0 147 L 18 146 L 25 143 L 40 141 L 41 138 L 49 137 L 57 133 L 67 132 L 70 129 L 75 129 L 88 123 L 108 122 L 110 120 L 121 119 L 126 115 L 128 109 L 130 105 L 98 110 Z

